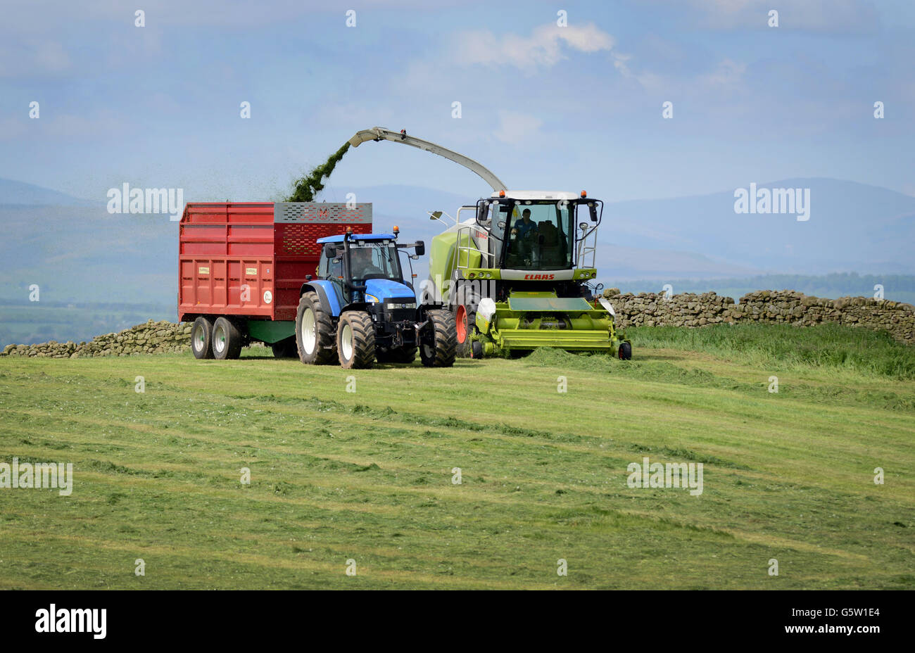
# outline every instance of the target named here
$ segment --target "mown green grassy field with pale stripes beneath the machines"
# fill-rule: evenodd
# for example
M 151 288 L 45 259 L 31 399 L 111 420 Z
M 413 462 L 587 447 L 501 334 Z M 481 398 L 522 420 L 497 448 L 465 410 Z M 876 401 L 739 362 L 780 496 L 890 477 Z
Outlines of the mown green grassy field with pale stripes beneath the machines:
M 915 588 L 915 350 L 630 336 L 629 362 L 417 361 L 354 392 L 264 349 L 0 359 L 0 462 L 75 476 L 0 489 L 0 587 Z M 643 456 L 702 463 L 703 494 L 628 487 Z

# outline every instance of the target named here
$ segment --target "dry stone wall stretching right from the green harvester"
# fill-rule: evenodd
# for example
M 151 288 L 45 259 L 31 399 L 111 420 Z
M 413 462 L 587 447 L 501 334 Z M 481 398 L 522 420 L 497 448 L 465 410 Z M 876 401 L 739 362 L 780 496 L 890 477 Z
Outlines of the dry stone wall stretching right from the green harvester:
M 715 293 L 621 294 L 619 288 L 604 291 L 613 305 L 619 326 L 705 326 L 727 322 L 770 322 L 812 326 L 834 322 L 864 326 L 888 333 L 907 344 L 915 343 L 915 307 L 870 297 L 825 299 L 793 290 L 759 290 L 740 297 Z

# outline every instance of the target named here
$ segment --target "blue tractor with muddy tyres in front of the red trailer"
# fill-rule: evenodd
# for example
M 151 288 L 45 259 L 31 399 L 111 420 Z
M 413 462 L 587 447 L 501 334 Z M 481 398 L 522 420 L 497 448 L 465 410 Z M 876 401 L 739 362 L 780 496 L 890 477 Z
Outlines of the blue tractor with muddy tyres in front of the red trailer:
M 306 277 L 296 312 L 298 356 L 308 365 L 339 361 L 344 369 L 380 363 L 426 367 L 454 364 L 458 347 L 454 314 L 443 305 L 417 305 L 413 284 L 404 280 L 398 250 L 425 254 L 425 243 L 397 242 L 393 233 L 318 239 L 318 278 Z M 412 270 L 412 263 L 411 263 Z

